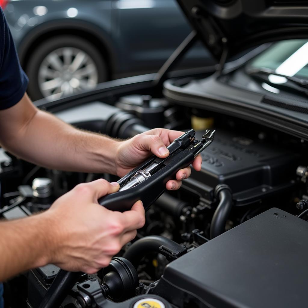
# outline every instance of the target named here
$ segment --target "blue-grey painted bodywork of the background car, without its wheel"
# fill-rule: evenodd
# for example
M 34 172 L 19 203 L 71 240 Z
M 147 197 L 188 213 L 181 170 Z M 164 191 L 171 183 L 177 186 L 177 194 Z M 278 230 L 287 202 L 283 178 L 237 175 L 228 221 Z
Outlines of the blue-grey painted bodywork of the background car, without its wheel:
M 97 40 L 111 78 L 156 71 L 191 30 L 174 0 L 12 0 L 5 14 L 22 66 L 38 43 L 74 33 Z M 212 63 L 203 47 L 186 62 Z

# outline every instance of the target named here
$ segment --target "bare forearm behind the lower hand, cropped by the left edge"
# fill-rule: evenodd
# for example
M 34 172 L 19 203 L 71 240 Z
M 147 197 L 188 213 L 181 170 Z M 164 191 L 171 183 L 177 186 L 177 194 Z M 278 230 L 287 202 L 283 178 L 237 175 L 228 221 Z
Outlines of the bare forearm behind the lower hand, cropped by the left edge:
M 0 282 L 50 261 L 53 240 L 48 235 L 49 219 L 38 214 L 0 222 Z

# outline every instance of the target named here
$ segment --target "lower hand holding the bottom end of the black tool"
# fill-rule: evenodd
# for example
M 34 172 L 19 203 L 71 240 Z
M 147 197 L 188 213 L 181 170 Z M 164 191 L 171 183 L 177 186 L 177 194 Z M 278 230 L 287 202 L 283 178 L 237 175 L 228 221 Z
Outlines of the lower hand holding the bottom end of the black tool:
M 110 211 L 98 199 L 115 193 L 119 184 L 99 179 L 79 184 L 57 199 L 49 210 L 52 230 L 49 263 L 68 271 L 94 274 L 136 236 L 144 225 L 144 207 L 136 202 L 130 211 Z

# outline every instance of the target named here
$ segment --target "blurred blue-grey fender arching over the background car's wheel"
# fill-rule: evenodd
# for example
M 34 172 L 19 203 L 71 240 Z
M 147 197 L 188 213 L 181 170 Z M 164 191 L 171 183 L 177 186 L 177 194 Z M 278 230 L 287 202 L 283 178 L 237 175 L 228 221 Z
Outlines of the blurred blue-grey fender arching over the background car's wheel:
M 42 7 L 42 3 L 47 13 L 42 16 L 34 14 L 35 8 Z M 76 6 L 78 14 L 68 17 L 68 10 Z M 92 16 L 93 10 L 97 12 L 96 16 Z M 22 65 L 32 46 L 42 43 L 50 33 L 61 35 L 63 30 L 93 34 L 106 46 L 111 59 L 115 54 L 111 35 L 112 1 L 65 0 L 57 1 L 55 5 L 54 1 L 16 0 L 7 5 L 5 14 Z

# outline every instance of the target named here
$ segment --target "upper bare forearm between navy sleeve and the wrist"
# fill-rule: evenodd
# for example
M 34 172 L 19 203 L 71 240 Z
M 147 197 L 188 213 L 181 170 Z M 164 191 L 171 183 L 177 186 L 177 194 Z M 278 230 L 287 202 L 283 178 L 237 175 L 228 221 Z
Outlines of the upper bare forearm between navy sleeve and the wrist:
M 3 144 L 14 155 L 51 169 L 115 174 L 119 141 L 83 132 L 37 111 L 19 134 Z

